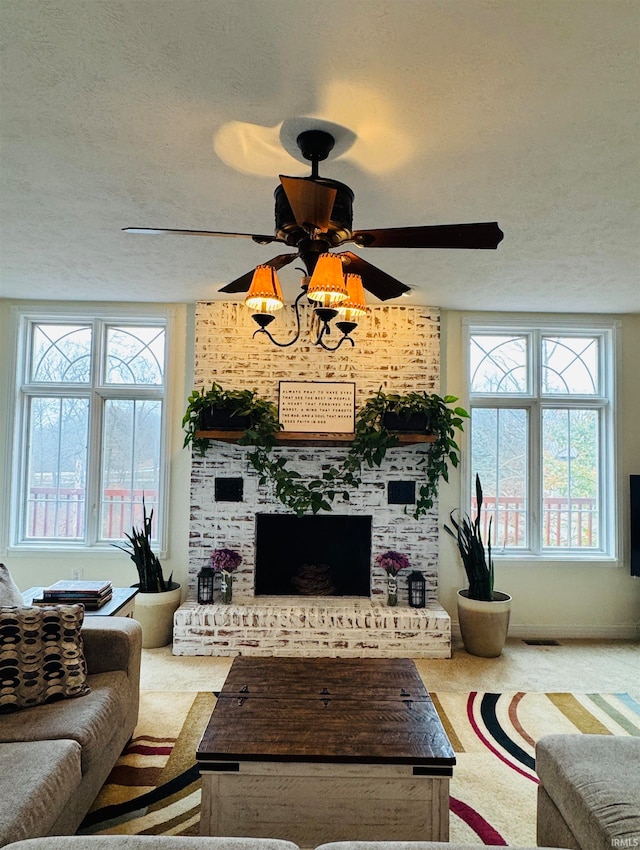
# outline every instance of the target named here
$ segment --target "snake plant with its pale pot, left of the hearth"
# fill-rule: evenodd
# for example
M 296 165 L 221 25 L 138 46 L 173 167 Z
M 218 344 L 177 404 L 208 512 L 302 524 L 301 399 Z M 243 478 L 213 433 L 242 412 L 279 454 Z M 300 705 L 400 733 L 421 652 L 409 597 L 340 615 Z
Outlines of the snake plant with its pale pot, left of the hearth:
M 152 523 L 153 508 L 147 514 L 143 498 L 142 527 L 134 525 L 131 534 L 125 532 L 125 543 L 113 544 L 129 555 L 138 571 L 133 616 L 142 627 L 142 646 L 145 649 L 155 649 L 172 642 L 173 615 L 181 598 L 180 585 L 173 581 L 173 573 L 165 581 L 162 564 L 152 549 Z

